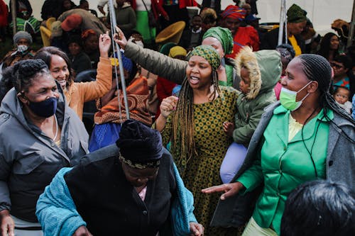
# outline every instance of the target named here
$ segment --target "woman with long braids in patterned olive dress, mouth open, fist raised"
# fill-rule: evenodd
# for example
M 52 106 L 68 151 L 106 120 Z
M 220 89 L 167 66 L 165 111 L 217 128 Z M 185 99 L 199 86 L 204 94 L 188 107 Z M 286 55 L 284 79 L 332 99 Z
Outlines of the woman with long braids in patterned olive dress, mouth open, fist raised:
M 213 47 L 195 47 L 188 58 L 187 78 L 179 97 L 162 101 L 155 128 L 161 132 L 165 145 L 171 141 L 170 152 L 187 189 L 194 195 L 194 212 L 205 227 L 205 235 L 236 235 L 236 229 L 209 227 L 218 196 L 205 196 L 201 189 L 222 184 L 219 167 L 232 142 L 223 131 L 223 122 L 234 120 L 239 93 L 231 87 L 218 86 L 221 57 Z

